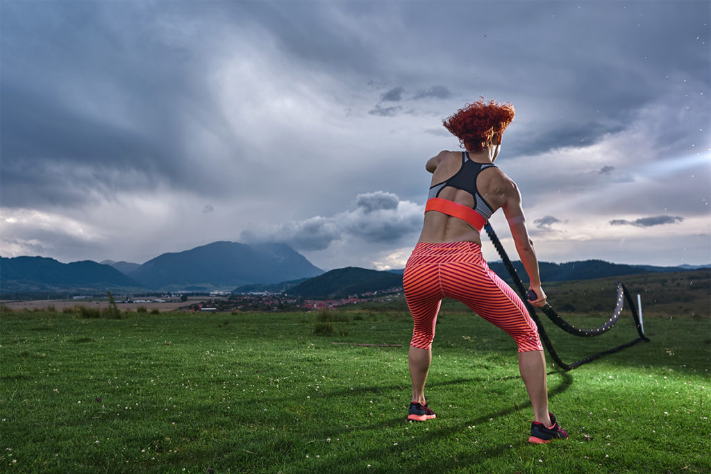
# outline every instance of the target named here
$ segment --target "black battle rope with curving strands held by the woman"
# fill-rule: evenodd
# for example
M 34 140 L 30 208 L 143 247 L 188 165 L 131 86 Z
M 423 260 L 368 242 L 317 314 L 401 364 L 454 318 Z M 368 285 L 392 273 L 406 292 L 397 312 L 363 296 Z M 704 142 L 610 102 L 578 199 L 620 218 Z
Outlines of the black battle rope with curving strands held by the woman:
M 555 349 L 553 349 L 553 345 L 550 343 L 550 339 L 548 339 L 548 335 L 545 333 L 545 329 L 543 328 L 543 324 L 541 323 L 540 319 L 538 318 L 538 315 L 535 312 L 535 308 L 533 308 L 533 305 L 531 305 L 528 302 L 528 299 L 526 298 L 526 291 L 523 286 L 523 283 L 521 282 L 521 279 L 518 276 L 518 273 L 516 272 L 516 269 L 513 267 L 513 264 L 511 263 L 510 259 L 508 259 L 508 254 L 506 254 L 506 250 L 503 249 L 503 246 L 501 245 L 501 242 L 499 241 L 498 237 L 496 236 L 496 232 L 493 231 L 493 227 L 491 227 L 490 224 L 487 224 L 484 226 L 484 229 L 486 229 L 486 234 L 488 235 L 489 239 L 491 239 L 491 243 L 493 243 L 493 246 L 496 247 L 496 251 L 498 254 L 501 256 L 501 260 L 506 266 L 506 269 L 508 270 L 508 273 L 511 276 L 511 279 L 513 280 L 513 284 L 518 290 L 518 293 L 521 296 L 521 299 L 523 300 L 526 308 L 528 308 L 528 313 L 530 313 L 531 319 L 535 322 L 535 324 L 538 326 L 538 335 L 540 335 L 540 340 L 545 345 L 545 348 L 548 350 L 550 356 L 552 359 L 559 365 L 563 370 L 571 370 L 576 367 L 580 367 L 583 364 L 587 364 L 588 362 L 592 362 L 593 360 L 599 359 L 603 355 L 607 354 L 614 354 L 614 352 L 619 352 L 623 349 L 629 348 L 636 343 L 640 341 L 646 341 L 649 342 L 649 339 L 644 335 L 641 323 L 639 321 L 639 315 L 636 312 L 635 306 L 634 306 L 634 301 L 632 301 L 632 297 L 629 294 L 629 291 L 627 291 L 626 287 L 621 281 L 617 282 L 617 304 L 615 306 L 615 310 L 613 312 L 613 315 L 611 318 L 609 318 L 603 325 L 601 325 L 599 328 L 594 328 L 594 329 L 582 329 L 582 328 L 577 328 L 576 326 L 568 323 L 565 321 L 563 318 L 558 316 L 558 313 L 556 313 L 555 309 L 553 309 L 550 304 L 546 303 L 546 305 L 541 308 L 541 311 L 545 313 L 545 316 L 548 316 L 550 321 L 555 323 L 559 328 L 562 330 L 565 330 L 565 332 L 570 333 L 572 335 L 577 335 L 581 337 L 593 337 L 596 335 L 604 334 L 607 331 L 609 331 L 612 326 L 617 323 L 619 320 L 620 314 L 622 313 L 622 308 L 624 306 L 624 299 L 627 300 L 627 304 L 629 305 L 630 311 L 632 311 L 632 317 L 634 318 L 634 323 L 637 328 L 637 333 L 639 334 L 639 337 L 636 338 L 635 340 L 631 340 L 629 343 L 625 343 L 622 345 L 617 346 L 616 348 L 608 349 L 608 350 L 603 350 L 602 352 L 597 352 L 597 354 L 589 355 L 588 357 L 584 357 L 581 360 L 577 360 L 576 362 L 573 362 L 572 364 L 566 364 L 563 362 L 560 357 L 558 357 L 557 352 L 555 352 Z

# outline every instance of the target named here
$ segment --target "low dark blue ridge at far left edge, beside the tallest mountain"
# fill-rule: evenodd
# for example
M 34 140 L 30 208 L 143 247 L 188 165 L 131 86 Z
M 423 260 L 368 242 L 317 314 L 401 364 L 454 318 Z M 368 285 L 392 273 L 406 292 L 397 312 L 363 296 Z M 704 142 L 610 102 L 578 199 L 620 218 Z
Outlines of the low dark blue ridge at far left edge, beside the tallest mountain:
M 38 292 L 137 291 L 145 287 L 109 265 L 63 264 L 46 257 L 0 257 L 3 297 Z

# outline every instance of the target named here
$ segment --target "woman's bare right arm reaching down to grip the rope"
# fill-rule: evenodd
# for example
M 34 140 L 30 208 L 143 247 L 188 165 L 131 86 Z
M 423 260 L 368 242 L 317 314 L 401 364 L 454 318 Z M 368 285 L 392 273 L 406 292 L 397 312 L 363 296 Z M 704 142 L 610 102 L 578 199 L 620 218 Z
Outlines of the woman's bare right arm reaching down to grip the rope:
M 503 213 L 506 215 L 506 220 L 508 220 L 508 227 L 511 230 L 511 237 L 513 237 L 518 257 L 521 259 L 521 263 L 523 263 L 523 267 L 528 274 L 528 281 L 530 282 L 528 289 L 535 291 L 536 296 L 538 296 L 530 303 L 533 306 L 545 306 L 546 296 L 541 288 L 538 258 L 536 257 L 535 249 L 533 249 L 533 240 L 528 235 L 526 219 L 521 206 L 521 194 L 518 192 L 516 183 L 508 181 L 505 193 L 506 203 L 502 206 Z

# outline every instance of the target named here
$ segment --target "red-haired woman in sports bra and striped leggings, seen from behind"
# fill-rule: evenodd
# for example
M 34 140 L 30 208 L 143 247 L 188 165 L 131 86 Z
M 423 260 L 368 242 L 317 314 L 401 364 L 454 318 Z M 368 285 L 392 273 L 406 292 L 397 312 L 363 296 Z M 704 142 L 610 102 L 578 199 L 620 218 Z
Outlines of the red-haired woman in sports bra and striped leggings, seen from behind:
M 432 362 L 439 305 L 442 298 L 454 298 L 515 340 L 520 375 L 535 416 L 528 441 L 548 443 L 553 438 L 567 438 L 567 433 L 548 412 L 545 357 L 538 330 L 520 298 L 488 268 L 481 255 L 481 229 L 501 208 L 528 273 L 529 289 L 537 296 L 530 303 L 545 306 L 520 193 L 493 164 L 501 149 L 501 135 L 513 115 L 511 104 L 486 103 L 483 97 L 466 105 L 444 120 L 444 126 L 466 151 L 442 151 L 427 161 L 432 185 L 424 225 L 403 277 L 407 306 L 415 321 L 408 357 L 412 403 L 407 419 L 435 417 L 424 398 L 424 383 Z

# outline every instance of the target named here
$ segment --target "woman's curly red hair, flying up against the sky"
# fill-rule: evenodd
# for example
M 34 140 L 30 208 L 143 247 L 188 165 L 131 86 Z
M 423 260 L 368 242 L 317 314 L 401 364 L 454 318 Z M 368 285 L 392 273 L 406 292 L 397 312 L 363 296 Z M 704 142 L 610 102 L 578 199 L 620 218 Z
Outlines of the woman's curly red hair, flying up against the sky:
M 459 139 L 464 149 L 481 151 L 491 146 L 494 136 L 501 140 L 501 134 L 513 121 L 513 105 L 497 104 L 493 100 L 486 104 L 484 98 L 474 104 L 466 104 L 456 114 L 444 119 L 442 124 Z

